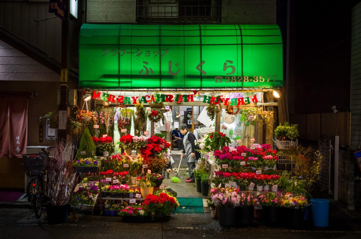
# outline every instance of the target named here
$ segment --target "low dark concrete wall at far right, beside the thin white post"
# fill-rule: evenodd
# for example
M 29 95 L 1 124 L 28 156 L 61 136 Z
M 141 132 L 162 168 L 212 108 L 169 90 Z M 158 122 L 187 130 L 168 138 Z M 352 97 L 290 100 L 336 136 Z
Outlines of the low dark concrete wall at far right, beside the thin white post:
M 340 150 L 338 200 L 347 204 L 347 208 L 350 210 L 355 209 L 353 180 L 354 170 L 355 157 L 353 156 L 353 152 Z

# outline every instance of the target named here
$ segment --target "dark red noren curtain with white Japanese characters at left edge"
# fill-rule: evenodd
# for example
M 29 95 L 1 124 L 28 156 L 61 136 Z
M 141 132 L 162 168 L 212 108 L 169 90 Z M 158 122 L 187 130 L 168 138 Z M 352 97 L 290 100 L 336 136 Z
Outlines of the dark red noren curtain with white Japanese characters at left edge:
M 0 95 L 0 157 L 26 153 L 28 93 Z

